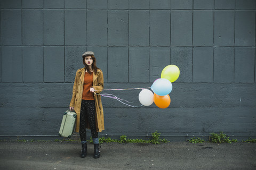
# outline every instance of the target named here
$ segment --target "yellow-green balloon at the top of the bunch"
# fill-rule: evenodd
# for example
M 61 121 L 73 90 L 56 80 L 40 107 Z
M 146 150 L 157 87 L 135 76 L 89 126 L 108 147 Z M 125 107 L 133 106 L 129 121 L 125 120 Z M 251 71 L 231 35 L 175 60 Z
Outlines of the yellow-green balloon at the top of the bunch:
M 161 78 L 174 82 L 179 78 L 179 75 L 180 75 L 179 67 L 177 67 L 176 65 L 167 65 L 166 67 L 164 67 L 161 73 Z

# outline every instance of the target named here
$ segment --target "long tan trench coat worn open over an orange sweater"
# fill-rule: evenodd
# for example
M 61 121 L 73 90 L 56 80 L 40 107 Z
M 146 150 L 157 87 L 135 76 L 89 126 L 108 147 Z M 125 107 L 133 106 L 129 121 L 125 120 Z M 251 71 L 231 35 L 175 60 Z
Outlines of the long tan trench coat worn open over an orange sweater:
M 69 107 L 74 107 L 74 110 L 77 114 L 76 118 L 76 132 L 79 132 L 79 125 L 80 125 L 80 111 L 81 111 L 81 103 L 82 103 L 82 95 L 83 95 L 83 85 L 84 85 L 84 74 L 85 74 L 85 67 L 82 69 L 78 69 L 76 72 L 76 78 L 73 86 L 73 96 L 70 101 Z M 97 94 L 103 90 L 103 73 L 100 69 L 98 69 L 97 73 L 93 73 L 93 88 Z M 95 101 L 95 109 L 96 109 L 96 130 L 97 132 L 101 132 L 104 130 L 104 116 L 103 116 L 103 109 L 101 104 L 101 96 L 94 94 L 94 101 Z M 90 129 L 89 123 L 86 122 L 87 129 Z

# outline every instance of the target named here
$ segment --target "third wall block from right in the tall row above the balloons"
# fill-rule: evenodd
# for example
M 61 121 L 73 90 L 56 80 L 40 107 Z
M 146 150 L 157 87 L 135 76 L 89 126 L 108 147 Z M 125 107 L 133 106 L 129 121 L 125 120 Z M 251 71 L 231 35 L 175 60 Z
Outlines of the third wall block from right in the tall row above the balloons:
M 193 45 L 213 46 L 213 11 L 194 11 Z

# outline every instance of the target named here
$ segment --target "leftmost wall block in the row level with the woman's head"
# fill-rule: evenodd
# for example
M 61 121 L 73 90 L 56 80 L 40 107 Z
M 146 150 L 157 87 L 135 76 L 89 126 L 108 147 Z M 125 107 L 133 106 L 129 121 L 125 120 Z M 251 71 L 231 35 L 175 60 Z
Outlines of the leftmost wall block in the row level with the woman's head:
M 22 81 L 22 47 L 2 46 L 2 82 Z

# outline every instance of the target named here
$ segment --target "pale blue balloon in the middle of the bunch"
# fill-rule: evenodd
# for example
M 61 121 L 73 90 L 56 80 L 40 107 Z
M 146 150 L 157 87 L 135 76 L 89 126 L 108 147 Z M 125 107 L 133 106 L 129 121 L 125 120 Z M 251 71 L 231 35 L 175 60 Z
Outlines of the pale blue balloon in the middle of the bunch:
M 167 79 L 157 79 L 151 86 L 155 94 L 165 96 L 172 91 L 172 83 Z

